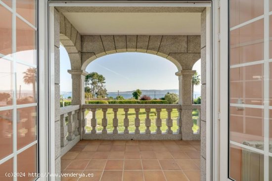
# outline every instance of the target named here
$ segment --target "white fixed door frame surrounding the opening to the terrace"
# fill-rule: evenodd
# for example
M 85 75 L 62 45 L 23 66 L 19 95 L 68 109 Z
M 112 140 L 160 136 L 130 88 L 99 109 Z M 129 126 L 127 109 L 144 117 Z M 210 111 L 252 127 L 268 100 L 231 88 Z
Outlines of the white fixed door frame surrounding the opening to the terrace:
M 222 0 L 223 1 L 223 0 Z M 167 2 L 167 3 L 166 3 Z M 191 3 L 190 3 L 191 2 Z M 218 17 L 220 11 L 218 11 L 220 7 L 220 0 L 140 0 L 140 1 L 99 1 L 99 0 L 85 0 L 76 2 L 74 0 L 48 0 L 48 32 L 49 32 L 49 43 L 48 43 L 48 57 L 50 59 L 49 70 L 50 77 L 54 77 L 54 51 L 52 50 L 53 36 L 54 36 L 54 7 L 55 6 L 121 6 L 125 7 L 133 7 L 133 6 L 167 6 L 167 7 L 208 7 L 207 9 L 207 17 L 206 17 L 206 47 L 207 47 L 207 57 L 206 57 L 206 71 L 210 74 L 207 74 L 206 80 L 206 181 L 217 180 L 219 178 L 219 142 L 217 135 L 219 132 L 216 131 L 216 126 L 218 125 L 218 110 L 219 110 L 219 88 L 217 87 L 217 83 L 219 79 L 217 75 L 219 75 L 219 22 L 220 19 Z M 49 79 L 48 79 L 49 81 Z M 49 81 L 49 102 L 50 107 L 54 107 L 54 81 Z M 214 92 L 214 93 L 213 93 Z M 54 110 L 50 110 L 50 137 L 54 138 Z M 53 148 L 52 139 L 50 139 L 50 147 Z M 217 141 L 217 142 L 215 142 Z M 50 171 L 54 173 L 54 149 L 50 149 Z

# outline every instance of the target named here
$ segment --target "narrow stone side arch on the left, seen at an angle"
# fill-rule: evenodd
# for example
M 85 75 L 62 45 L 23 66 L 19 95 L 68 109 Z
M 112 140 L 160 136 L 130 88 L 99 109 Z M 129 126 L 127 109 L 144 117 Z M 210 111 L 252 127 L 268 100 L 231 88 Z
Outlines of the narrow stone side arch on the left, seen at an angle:
M 71 69 L 81 69 L 81 34 L 62 13 L 59 16 L 60 44 L 68 52 Z

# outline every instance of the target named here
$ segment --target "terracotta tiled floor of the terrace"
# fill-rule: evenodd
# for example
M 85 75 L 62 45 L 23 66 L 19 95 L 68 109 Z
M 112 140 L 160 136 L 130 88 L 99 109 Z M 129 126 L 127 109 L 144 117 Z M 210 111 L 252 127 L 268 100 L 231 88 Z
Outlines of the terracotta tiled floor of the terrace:
M 200 181 L 200 141 L 82 140 L 61 170 L 78 174 L 62 181 Z

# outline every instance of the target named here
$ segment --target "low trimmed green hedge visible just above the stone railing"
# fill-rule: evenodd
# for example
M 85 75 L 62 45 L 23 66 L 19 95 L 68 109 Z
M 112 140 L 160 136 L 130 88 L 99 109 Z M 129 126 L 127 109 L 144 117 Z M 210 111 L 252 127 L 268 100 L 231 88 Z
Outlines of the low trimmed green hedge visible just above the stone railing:
M 166 100 L 87 100 L 86 104 L 167 104 Z M 64 101 L 64 106 L 71 105 L 71 101 Z M 60 102 L 62 107 L 62 101 Z

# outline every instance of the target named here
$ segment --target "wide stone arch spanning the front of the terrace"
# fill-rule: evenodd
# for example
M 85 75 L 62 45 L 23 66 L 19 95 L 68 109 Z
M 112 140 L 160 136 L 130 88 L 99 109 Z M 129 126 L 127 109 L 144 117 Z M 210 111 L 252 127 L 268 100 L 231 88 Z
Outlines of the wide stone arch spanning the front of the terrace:
M 200 58 L 200 36 L 86 35 L 82 36 L 82 66 L 96 58 L 118 52 L 142 52 L 173 62 L 180 72 L 191 70 Z

